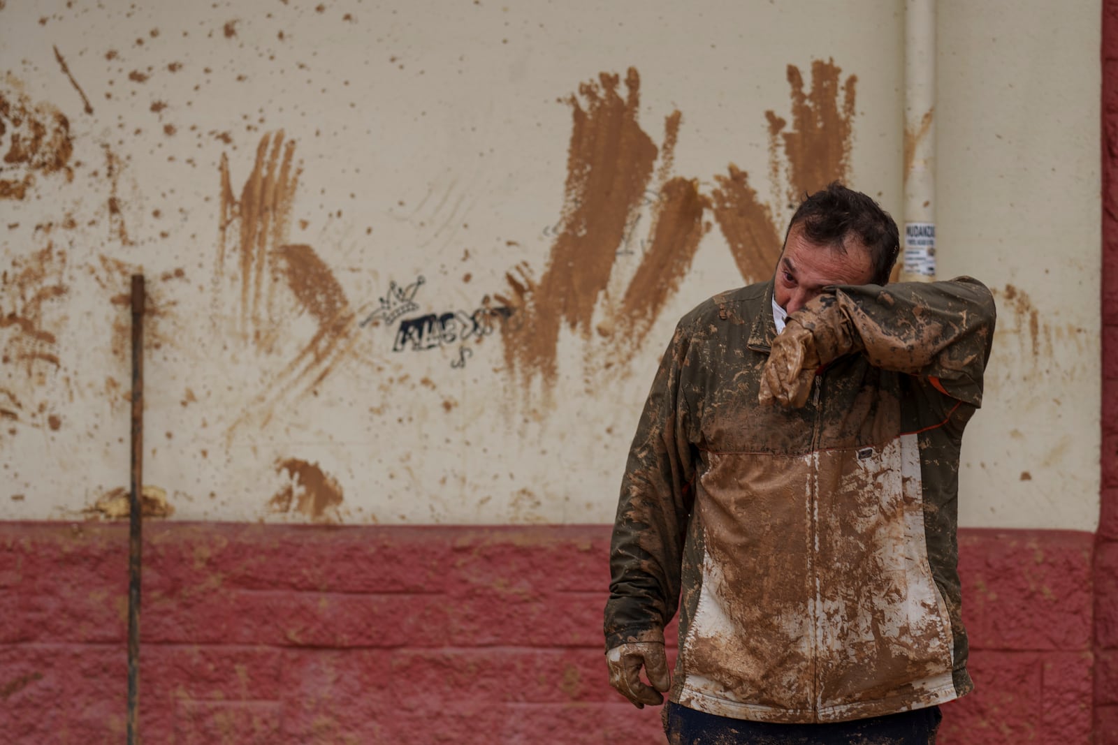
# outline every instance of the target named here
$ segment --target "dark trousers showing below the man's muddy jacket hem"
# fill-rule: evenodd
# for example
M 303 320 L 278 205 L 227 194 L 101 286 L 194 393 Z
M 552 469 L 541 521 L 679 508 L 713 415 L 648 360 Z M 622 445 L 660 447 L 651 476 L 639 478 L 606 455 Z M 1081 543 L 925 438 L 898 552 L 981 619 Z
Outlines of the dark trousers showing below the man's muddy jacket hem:
M 671 745 L 935 745 L 938 706 L 827 724 L 769 724 L 695 711 L 669 701 L 664 733 Z

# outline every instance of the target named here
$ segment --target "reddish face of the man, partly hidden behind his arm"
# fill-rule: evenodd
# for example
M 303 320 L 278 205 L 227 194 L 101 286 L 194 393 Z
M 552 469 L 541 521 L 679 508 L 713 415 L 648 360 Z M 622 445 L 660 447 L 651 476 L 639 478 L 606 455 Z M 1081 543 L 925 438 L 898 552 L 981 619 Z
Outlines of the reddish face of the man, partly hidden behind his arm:
M 873 279 L 873 260 L 856 238 L 845 242 L 846 252 L 813 243 L 796 226 L 788 233 L 776 265 L 776 303 L 789 314 L 804 307 L 827 285 L 868 285 Z

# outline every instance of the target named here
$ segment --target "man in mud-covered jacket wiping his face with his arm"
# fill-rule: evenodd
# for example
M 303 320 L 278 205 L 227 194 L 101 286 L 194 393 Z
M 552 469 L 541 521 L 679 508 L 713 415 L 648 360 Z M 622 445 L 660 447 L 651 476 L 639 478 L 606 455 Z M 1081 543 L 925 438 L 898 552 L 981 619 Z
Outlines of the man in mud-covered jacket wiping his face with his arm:
M 605 612 L 610 684 L 637 707 L 670 691 L 672 743 L 929 743 L 938 705 L 973 688 L 958 465 L 994 303 L 967 277 L 887 287 L 898 250 L 892 218 L 833 183 L 793 216 L 773 279 L 675 329 Z

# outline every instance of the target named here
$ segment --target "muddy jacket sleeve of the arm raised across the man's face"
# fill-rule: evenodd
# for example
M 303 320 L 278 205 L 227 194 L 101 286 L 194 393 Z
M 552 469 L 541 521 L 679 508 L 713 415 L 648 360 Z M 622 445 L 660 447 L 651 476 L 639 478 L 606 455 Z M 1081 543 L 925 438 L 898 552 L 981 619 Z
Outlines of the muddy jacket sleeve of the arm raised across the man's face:
M 995 309 L 976 279 L 839 286 L 789 318 L 812 332 L 823 364 L 861 352 L 875 367 L 919 376 L 940 393 L 982 405 Z

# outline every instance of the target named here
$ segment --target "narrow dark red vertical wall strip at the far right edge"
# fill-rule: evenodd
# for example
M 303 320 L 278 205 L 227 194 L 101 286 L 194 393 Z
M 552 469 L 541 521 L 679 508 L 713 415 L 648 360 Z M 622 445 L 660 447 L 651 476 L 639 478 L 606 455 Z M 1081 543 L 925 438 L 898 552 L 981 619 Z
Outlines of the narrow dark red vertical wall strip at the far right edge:
M 1102 3 L 1102 509 L 1095 555 L 1096 745 L 1118 745 L 1118 0 Z

